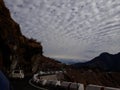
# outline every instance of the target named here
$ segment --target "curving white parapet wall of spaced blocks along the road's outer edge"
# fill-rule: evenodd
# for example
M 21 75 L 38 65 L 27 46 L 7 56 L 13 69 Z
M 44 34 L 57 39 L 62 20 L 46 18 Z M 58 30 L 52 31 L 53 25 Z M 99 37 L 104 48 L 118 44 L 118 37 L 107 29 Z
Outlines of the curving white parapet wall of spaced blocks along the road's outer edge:
M 84 84 L 76 83 L 76 82 L 67 82 L 67 81 L 59 81 L 57 79 L 47 79 L 47 77 L 51 77 L 54 75 L 47 75 L 47 76 L 40 76 L 38 77 L 38 73 L 34 74 L 33 81 L 36 83 L 39 83 L 42 86 L 59 86 L 62 89 L 65 90 L 120 90 L 120 88 L 112 88 L 112 87 L 105 87 L 105 86 L 99 86 L 99 85 L 93 85 L 89 84 L 84 87 Z M 44 77 L 44 78 L 43 78 Z

